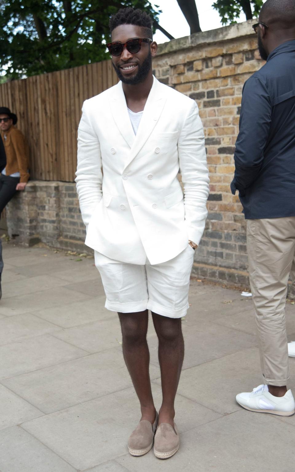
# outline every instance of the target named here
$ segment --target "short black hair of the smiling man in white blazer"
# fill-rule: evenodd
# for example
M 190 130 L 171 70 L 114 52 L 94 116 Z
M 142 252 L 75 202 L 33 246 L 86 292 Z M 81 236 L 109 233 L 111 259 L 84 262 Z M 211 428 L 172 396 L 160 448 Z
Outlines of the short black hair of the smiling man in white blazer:
M 144 34 L 152 39 L 152 19 L 139 8 L 120 8 L 118 12 L 110 18 L 110 32 L 119 25 L 136 25 L 144 28 Z

